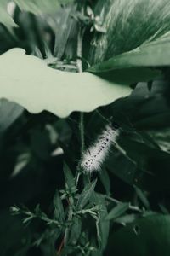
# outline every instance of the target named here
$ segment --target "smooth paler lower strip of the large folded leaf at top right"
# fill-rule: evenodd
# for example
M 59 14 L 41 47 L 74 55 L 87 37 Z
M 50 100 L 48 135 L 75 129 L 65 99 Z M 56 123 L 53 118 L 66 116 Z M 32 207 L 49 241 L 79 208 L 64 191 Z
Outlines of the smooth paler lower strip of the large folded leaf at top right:
M 138 49 L 133 49 L 122 55 L 117 55 L 109 61 L 91 67 L 92 72 L 106 72 L 118 68 L 129 67 L 160 67 L 170 65 L 170 33 L 157 38 L 155 41 L 145 43 Z

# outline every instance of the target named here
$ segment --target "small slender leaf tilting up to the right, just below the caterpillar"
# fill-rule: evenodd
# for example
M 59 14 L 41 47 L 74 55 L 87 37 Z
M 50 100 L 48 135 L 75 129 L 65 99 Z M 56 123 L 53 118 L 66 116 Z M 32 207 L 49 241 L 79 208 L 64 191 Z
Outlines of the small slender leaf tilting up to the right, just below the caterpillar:
M 86 187 L 82 190 L 81 195 L 79 195 L 77 201 L 77 210 L 82 210 L 82 208 L 88 203 L 88 200 L 94 192 L 95 185 L 97 180 L 94 180 L 92 183 L 88 183 Z

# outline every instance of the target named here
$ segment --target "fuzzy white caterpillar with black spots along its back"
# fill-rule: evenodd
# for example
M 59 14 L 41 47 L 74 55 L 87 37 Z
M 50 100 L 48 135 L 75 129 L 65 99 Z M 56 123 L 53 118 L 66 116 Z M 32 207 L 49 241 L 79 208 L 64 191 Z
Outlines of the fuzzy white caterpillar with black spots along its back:
M 118 125 L 106 125 L 104 131 L 97 137 L 97 140 L 90 146 L 84 154 L 80 166 L 83 172 L 99 171 L 109 154 L 111 145 L 116 143 L 117 137 L 120 135 L 121 129 Z

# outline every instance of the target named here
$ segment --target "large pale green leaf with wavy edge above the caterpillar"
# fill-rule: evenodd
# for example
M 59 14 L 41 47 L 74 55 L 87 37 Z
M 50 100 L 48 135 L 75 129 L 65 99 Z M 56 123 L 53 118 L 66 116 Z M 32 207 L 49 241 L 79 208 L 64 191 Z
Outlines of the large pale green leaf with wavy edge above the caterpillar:
M 59 117 L 73 111 L 89 112 L 130 93 L 91 73 L 66 73 L 11 49 L 0 56 L 0 98 L 19 103 L 32 113 L 48 110 Z

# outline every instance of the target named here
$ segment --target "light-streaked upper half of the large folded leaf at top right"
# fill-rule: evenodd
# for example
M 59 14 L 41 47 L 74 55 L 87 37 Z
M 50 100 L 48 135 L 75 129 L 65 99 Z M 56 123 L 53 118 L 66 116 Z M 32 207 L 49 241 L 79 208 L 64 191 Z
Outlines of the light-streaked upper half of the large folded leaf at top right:
M 95 14 L 106 32 L 96 32 L 92 39 L 92 64 L 136 49 L 170 30 L 169 0 L 99 0 Z

